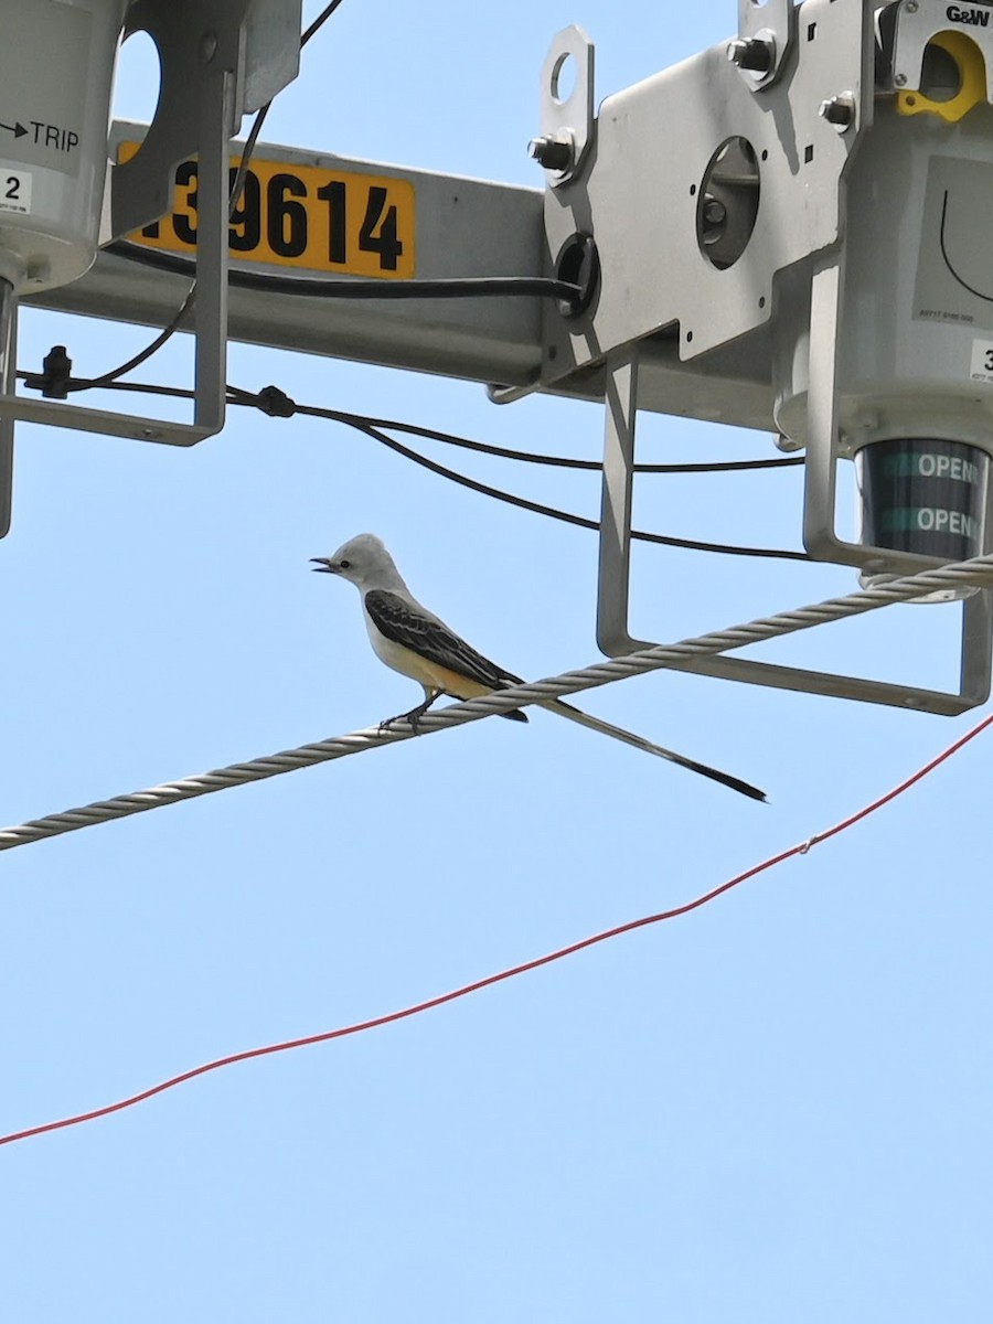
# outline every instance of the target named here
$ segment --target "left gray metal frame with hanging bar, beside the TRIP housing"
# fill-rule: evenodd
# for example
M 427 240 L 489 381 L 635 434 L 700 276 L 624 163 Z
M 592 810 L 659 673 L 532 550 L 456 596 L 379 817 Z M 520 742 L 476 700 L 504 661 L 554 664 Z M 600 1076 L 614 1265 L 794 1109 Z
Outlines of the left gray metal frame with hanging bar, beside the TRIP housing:
M 0 301 L 0 538 L 11 526 L 15 421 L 192 446 L 224 428 L 228 360 L 228 150 L 241 114 L 297 77 L 302 0 L 132 0 L 126 34 L 147 32 L 162 62 L 140 152 L 110 167 L 101 242 L 169 207 L 175 167 L 199 156 L 192 422 L 17 395 L 13 291 Z M 109 225 L 107 225 L 109 217 Z

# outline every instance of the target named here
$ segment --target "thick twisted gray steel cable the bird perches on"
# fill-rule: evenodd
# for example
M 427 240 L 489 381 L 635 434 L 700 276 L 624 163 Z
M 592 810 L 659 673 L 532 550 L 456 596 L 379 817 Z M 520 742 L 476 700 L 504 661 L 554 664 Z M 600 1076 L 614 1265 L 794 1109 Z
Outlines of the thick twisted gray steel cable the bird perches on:
M 941 569 L 906 576 L 904 579 L 894 580 L 890 584 L 859 593 L 849 593 L 845 597 L 829 598 L 825 602 L 812 606 L 781 612 L 776 616 L 751 621 L 747 625 L 735 625 L 726 630 L 702 634 L 698 638 L 683 639 L 679 643 L 642 649 L 628 657 L 614 658 L 609 662 L 597 662 L 579 671 L 565 671 L 563 675 L 551 677 L 547 681 L 538 681 L 532 685 L 516 685 L 496 694 L 486 695 L 482 699 L 455 703 L 438 712 L 425 714 L 420 719 L 418 733 L 429 735 L 445 727 L 462 726 L 465 722 L 478 722 L 481 718 L 496 712 L 507 712 L 511 708 L 520 708 L 532 703 L 540 706 L 544 699 L 557 699 L 567 694 L 579 694 L 583 690 L 610 685 L 614 681 L 622 681 L 632 675 L 642 675 L 649 671 L 665 669 L 677 671 L 691 670 L 694 659 L 699 657 L 728 653 L 745 647 L 749 643 L 759 643 L 785 634 L 794 634 L 814 625 L 824 625 L 828 621 L 839 621 L 849 616 L 862 616 L 866 612 L 878 610 L 880 606 L 888 606 L 891 602 L 904 602 L 910 598 L 932 593 L 935 589 L 947 589 L 952 585 L 993 587 L 993 556 L 980 556 L 956 565 L 945 565 Z M 361 753 L 365 749 L 373 749 L 379 745 L 409 740 L 413 735 L 414 732 L 409 726 L 391 727 L 385 731 L 371 727 L 364 731 L 354 731 L 350 735 L 319 740 L 315 744 L 301 745 L 297 749 L 287 749 L 282 753 L 252 759 L 249 763 L 236 763 L 228 768 L 218 768 L 214 772 L 183 777 L 180 781 L 167 781 L 160 786 L 151 786 L 148 790 L 114 796 L 111 800 L 98 800 L 81 809 L 68 809 L 62 813 L 46 814 L 44 818 L 34 818 L 16 828 L 0 829 L 0 850 L 13 850 L 16 846 L 26 846 L 30 842 L 42 841 L 46 837 L 58 837 L 62 833 L 75 831 L 79 828 L 91 828 L 97 824 L 111 822 L 115 818 L 144 813 L 148 809 L 160 809 L 180 800 L 193 800 L 197 796 L 212 794 L 214 790 L 226 790 L 230 786 L 242 786 L 252 781 L 262 781 L 266 777 L 278 777 L 283 772 L 295 772 L 298 768 L 310 768 L 314 764 L 330 763 L 332 759 L 344 759 L 348 755 Z

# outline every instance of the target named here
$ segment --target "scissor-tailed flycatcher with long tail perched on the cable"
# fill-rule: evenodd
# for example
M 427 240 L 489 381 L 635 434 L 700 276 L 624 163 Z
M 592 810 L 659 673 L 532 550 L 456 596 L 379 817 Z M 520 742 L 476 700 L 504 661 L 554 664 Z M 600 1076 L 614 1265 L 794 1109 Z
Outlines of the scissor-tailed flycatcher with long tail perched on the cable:
M 421 606 L 401 579 L 393 557 L 375 534 L 359 534 L 339 547 L 334 556 L 315 556 L 312 560 L 316 571 L 340 575 L 342 579 L 355 584 L 361 593 L 365 626 L 376 657 L 401 675 L 418 681 L 424 688 L 424 703 L 409 712 L 388 718 L 381 726 L 409 722 L 417 730 L 418 718 L 424 716 L 442 694 L 449 694 L 454 699 L 478 699 L 483 694 L 493 694 L 494 690 L 524 683 L 520 677 L 502 670 L 477 653 L 433 612 Z M 588 712 L 573 708 L 561 699 L 543 699 L 540 707 L 557 712 L 569 722 L 577 722 L 591 731 L 622 740 L 636 749 L 678 763 L 681 768 L 690 768 L 691 772 L 720 781 L 743 796 L 751 796 L 752 800 L 765 800 L 765 794 L 747 781 L 739 781 L 727 772 L 695 763 L 600 718 L 591 718 Z M 500 712 L 499 716 L 510 718 L 512 722 L 527 722 L 527 716 L 518 710 Z

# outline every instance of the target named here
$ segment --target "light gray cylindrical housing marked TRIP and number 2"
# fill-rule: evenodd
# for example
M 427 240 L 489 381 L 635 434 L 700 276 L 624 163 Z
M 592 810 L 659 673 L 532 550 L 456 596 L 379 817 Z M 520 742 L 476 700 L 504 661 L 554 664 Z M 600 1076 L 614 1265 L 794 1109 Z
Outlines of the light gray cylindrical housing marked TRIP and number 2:
M 0 0 L 0 277 L 19 293 L 97 256 L 127 0 Z

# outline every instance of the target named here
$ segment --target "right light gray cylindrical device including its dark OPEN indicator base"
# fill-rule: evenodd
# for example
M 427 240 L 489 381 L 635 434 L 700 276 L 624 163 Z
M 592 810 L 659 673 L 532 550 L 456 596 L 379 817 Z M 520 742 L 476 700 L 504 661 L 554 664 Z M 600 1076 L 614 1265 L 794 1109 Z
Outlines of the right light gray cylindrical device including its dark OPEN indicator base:
M 878 101 L 843 196 L 834 445 L 857 458 L 859 542 L 882 560 L 981 555 L 993 457 L 993 107 L 949 124 Z M 784 273 L 779 295 L 773 412 L 802 446 L 809 271 Z M 870 571 L 861 580 L 879 581 Z

